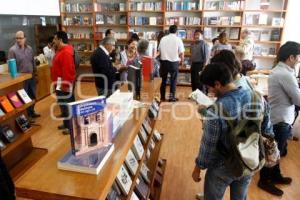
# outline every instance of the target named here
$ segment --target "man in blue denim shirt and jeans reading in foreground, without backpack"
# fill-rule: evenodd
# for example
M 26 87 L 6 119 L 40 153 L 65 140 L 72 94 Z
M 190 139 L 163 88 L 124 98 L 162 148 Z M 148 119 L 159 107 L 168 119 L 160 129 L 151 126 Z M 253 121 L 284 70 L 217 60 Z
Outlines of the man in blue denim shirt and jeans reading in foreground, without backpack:
M 230 148 L 225 137 L 225 133 L 230 131 L 230 128 L 226 118 L 219 114 L 219 108 L 222 105 L 222 110 L 226 110 L 238 124 L 241 120 L 239 118 L 241 111 L 250 106 L 253 94 L 250 90 L 235 85 L 232 72 L 223 63 L 207 65 L 200 75 L 200 80 L 216 94 L 217 100 L 214 106 L 204 108 L 206 112 L 203 112 L 203 136 L 192 178 L 195 182 L 201 181 L 201 171 L 207 169 L 204 181 L 205 200 L 222 199 L 227 187 L 230 187 L 231 199 L 246 199 L 253 173 L 237 177 L 232 169 L 225 165 L 226 156 L 220 151 L 226 152 Z M 262 132 L 272 134 L 272 127 L 267 117 L 267 105 L 259 98 L 257 103 L 264 108 Z M 237 159 L 237 157 L 232 158 Z

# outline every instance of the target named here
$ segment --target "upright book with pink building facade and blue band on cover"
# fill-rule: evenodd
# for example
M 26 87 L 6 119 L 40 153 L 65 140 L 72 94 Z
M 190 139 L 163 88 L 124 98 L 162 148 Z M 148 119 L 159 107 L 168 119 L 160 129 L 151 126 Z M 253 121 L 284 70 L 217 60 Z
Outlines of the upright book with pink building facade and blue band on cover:
M 112 115 L 106 110 L 106 98 L 94 97 L 68 103 L 70 138 L 74 155 L 101 148 L 112 141 Z

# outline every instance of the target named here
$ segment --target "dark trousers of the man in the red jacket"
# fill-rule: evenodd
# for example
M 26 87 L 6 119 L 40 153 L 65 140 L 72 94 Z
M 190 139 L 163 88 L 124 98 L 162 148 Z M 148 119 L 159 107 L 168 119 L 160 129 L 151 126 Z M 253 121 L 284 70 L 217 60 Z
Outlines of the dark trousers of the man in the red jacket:
M 69 117 L 69 108 L 67 103 L 71 103 L 75 101 L 74 93 L 63 92 L 60 90 L 56 90 L 57 102 L 60 107 L 61 116 L 63 118 Z M 70 129 L 69 120 L 64 119 L 64 127 Z

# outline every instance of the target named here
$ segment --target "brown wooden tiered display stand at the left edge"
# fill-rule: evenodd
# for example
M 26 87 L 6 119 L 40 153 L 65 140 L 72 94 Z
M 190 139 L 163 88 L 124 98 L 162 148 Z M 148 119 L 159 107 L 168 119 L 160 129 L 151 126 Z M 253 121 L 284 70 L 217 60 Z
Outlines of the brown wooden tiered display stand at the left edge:
M 9 92 L 16 92 L 23 88 L 23 82 L 32 77 L 31 74 L 19 74 L 16 78 L 11 78 L 9 74 L 0 75 L 0 95 L 7 95 Z M 0 117 L 0 125 L 8 125 L 16 134 L 16 140 L 6 145 L 1 152 L 1 156 L 14 179 L 22 175 L 31 165 L 47 153 L 46 149 L 32 146 L 31 136 L 40 129 L 39 125 L 34 125 L 26 133 L 22 133 L 16 125 L 15 118 L 24 114 L 26 109 L 34 104 L 34 101 L 15 108 L 12 112 Z

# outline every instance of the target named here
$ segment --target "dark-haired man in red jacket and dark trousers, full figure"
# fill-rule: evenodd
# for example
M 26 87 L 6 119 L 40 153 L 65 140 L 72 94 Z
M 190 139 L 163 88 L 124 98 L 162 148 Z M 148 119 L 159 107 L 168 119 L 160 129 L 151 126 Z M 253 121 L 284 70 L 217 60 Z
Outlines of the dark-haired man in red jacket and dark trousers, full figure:
M 65 118 L 63 124 L 58 126 L 63 134 L 70 133 L 69 109 L 67 103 L 75 101 L 74 85 L 76 80 L 74 49 L 68 44 L 68 35 L 64 31 L 58 31 L 53 38 L 55 56 L 51 67 L 52 82 L 55 84 L 57 102 L 61 110 L 61 116 Z

